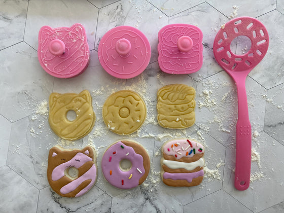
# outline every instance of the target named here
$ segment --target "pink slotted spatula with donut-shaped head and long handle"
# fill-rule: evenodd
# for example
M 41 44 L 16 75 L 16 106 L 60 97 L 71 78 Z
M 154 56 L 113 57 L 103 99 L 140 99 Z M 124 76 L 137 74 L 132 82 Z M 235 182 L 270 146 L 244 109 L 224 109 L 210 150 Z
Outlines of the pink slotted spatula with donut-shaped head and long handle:
M 242 55 L 234 54 L 230 45 L 240 35 L 248 37 L 252 46 Z M 246 190 L 250 186 L 252 127 L 248 118 L 245 79 L 263 59 L 269 44 L 265 26 L 252 17 L 232 19 L 222 27 L 214 41 L 214 55 L 220 66 L 235 81 L 238 96 L 238 121 L 236 125 L 235 188 Z

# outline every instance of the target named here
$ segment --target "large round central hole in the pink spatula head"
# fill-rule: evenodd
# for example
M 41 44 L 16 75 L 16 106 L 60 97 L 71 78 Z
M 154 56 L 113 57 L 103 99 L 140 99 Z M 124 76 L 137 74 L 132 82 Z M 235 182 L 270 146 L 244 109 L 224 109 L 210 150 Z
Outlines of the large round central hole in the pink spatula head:
M 244 55 L 252 47 L 252 41 L 245 35 L 239 35 L 230 44 L 231 52 L 236 55 Z

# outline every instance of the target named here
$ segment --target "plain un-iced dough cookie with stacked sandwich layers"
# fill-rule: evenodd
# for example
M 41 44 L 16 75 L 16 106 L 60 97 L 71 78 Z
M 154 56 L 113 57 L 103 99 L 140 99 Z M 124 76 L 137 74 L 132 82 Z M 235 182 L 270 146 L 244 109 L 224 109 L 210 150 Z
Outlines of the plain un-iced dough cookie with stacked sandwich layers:
M 162 87 L 157 93 L 158 123 L 170 129 L 185 129 L 195 122 L 195 89 L 184 84 Z

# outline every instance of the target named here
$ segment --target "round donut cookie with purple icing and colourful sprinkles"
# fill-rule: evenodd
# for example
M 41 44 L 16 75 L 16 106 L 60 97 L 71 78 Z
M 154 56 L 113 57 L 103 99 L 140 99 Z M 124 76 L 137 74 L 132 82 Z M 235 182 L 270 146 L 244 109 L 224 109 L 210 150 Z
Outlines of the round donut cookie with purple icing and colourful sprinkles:
M 131 162 L 131 168 L 121 167 L 122 160 Z M 142 184 L 150 170 L 150 157 L 145 148 L 132 140 L 121 140 L 103 154 L 101 169 L 105 179 L 120 189 L 131 189 Z

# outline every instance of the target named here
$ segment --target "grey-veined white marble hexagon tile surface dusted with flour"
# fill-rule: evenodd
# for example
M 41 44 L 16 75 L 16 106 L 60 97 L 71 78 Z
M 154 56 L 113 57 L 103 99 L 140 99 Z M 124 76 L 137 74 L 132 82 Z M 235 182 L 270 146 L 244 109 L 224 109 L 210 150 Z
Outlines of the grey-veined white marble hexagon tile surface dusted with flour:
M 255 17 L 269 32 L 268 52 L 246 78 L 253 136 L 251 183 L 245 191 L 233 185 L 236 87 L 213 53 L 218 30 L 236 16 Z M 86 28 L 90 64 L 76 78 L 53 78 L 38 61 L 39 29 L 74 23 Z M 193 24 L 203 32 L 203 65 L 197 73 L 173 76 L 159 69 L 158 31 L 172 23 Z M 282 0 L 0 0 L 0 211 L 284 212 L 283 23 Z M 152 49 L 147 69 L 129 80 L 110 76 L 97 56 L 102 35 L 119 25 L 141 30 Z M 172 83 L 196 89 L 196 122 L 184 130 L 165 129 L 157 123 L 157 91 Z M 47 101 L 52 92 L 83 89 L 92 95 L 97 119 L 87 136 L 70 143 L 51 130 Z M 131 190 L 112 187 L 100 167 L 107 147 L 122 139 L 105 127 L 102 105 L 121 89 L 139 92 L 148 113 L 136 133 L 123 137 L 138 141 L 151 157 L 147 180 Z M 205 175 L 199 186 L 172 188 L 161 182 L 161 146 L 177 137 L 195 138 L 205 147 Z M 87 194 L 64 198 L 51 190 L 47 157 L 55 145 L 96 148 L 98 180 Z

